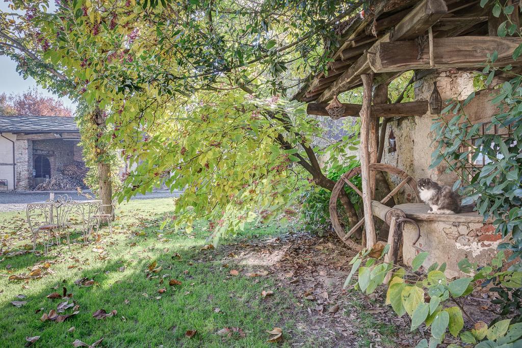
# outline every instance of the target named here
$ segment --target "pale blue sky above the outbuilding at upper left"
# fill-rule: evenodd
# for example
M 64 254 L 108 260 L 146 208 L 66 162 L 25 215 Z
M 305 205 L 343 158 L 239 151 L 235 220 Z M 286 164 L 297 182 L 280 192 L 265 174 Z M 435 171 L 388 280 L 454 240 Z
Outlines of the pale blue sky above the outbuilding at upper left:
M 0 0 L 0 10 L 10 11 L 7 7 L 7 3 Z M 60 99 L 65 106 L 75 110 L 74 103 L 68 98 L 57 98 L 52 92 L 49 92 L 37 85 L 33 78 L 29 77 L 23 79 L 16 72 L 16 63 L 11 61 L 9 57 L 0 55 L 0 93 L 22 93 L 27 91 L 29 88 L 36 87 L 43 95 L 49 95 L 56 99 Z

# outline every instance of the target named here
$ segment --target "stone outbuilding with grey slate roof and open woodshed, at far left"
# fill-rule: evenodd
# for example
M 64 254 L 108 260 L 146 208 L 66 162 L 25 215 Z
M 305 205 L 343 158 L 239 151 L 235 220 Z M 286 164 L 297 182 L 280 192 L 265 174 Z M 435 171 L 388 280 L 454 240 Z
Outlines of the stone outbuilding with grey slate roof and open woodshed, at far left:
M 82 162 L 72 117 L 0 116 L 0 190 L 31 190 Z

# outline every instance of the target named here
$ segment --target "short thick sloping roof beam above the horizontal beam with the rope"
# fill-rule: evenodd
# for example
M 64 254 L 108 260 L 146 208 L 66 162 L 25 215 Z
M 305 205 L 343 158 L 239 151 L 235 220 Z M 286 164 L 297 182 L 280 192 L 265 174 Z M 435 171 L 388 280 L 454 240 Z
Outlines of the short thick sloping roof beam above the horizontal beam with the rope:
M 417 38 L 447 13 L 444 0 L 423 0 L 395 26 L 390 41 Z

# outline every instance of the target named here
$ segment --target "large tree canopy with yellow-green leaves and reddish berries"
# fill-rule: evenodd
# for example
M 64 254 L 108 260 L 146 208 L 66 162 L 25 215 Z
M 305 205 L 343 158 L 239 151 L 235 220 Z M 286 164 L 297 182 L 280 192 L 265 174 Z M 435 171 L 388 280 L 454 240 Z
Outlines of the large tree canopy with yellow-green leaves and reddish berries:
M 219 236 L 273 216 L 309 181 L 333 188 L 313 145 L 322 129 L 287 96 L 310 71 L 325 69 L 337 26 L 360 8 L 323 0 L 76 0 L 57 2 L 53 12 L 46 2 L 14 1 L 26 13 L 10 25 L 41 62 L 19 49 L 10 55 L 56 70 L 106 115 L 100 141 L 122 149 L 134 167 L 120 199 L 162 184 L 185 189 L 176 224 L 190 228 L 206 217 Z M 337 158 L 345 147 L 326 150 Z M 341 200 L 354 223 L 352 203 Z

